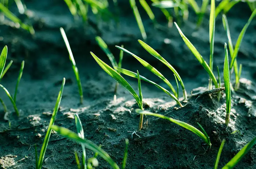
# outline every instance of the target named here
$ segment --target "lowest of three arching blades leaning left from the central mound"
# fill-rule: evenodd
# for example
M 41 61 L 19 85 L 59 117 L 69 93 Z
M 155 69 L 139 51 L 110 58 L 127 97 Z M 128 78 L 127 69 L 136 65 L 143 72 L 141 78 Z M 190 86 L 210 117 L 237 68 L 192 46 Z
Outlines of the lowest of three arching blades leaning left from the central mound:
M 130 77 L 134 77 L 134 78 L 138 78 L 138 75 L 137 73 L 134 73 L 130 70 L 126 70 L 126 69 L 123 69 L 123 68 L 118 68 L 118 67 L 115 67 L 116 70 L 120 71 L 121 73 L 127 75 L 127 76 L 130 76 Z M 175 97 L 171 92 L 169 92 L 168 90 L 166 90 L 165 88 L 163 88 L 162 86 L 156 84 L 155 82 L 151 81 L 151 80 L 148 80 L 146 77 L 143 77 L 140 75 L 140 79 L 141 80 L 144 80 L 152 85 L 155 85 L 157 88 L 159 88 L 160 90 L 162 90 L 163 92 L 165 92 L 166 94 L 168 94 L 169 96 L 172 97 L 172 99 L 174 99 L 179 105 L 180 107 L 183 107 L 182 104 L 180 103 L 179 99 L 177 97 Z

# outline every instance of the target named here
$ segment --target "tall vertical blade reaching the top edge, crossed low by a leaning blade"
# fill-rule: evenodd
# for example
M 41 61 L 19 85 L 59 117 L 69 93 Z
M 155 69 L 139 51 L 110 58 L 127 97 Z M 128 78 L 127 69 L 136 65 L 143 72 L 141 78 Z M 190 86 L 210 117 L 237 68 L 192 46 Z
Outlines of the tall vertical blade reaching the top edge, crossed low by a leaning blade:
M 211 12 L 209 20 L 209 39 L 210 39 L 210 69 L 213 70 L 214 53 L 214 34 L 215 34 L 215 0 L 211 0 Z M 212 79 L 209 80 L 209 89 L 212 90 Z

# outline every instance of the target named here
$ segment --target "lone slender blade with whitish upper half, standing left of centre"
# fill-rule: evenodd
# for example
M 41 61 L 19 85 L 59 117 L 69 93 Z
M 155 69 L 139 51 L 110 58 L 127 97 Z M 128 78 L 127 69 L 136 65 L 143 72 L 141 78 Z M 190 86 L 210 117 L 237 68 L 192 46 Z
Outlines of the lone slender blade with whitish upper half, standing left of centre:
M 80 95 L 80 103 L 83 104 L 84 96 L 83 96 L 83 88 L 82 88 L 81 80 L 80 80 L 80 77 L 79 77 L 79 72 L 78 72 L 78 69 L 76 67 L 76 62 L 75 62 L 73 53 L 72 53 L 71 48 L 70 48 L 69 43 L 68 43 L 68 38 L 67 38 L 66 33 L 65 33 L 65 31 L 64 31 L 64 29 L 62 27 L 60 28 L 60 33 L 61 33 L 62 38 L 63 38 L 63 40 L 64 40 L 64 42 L 66 44 L 66 47 L 68 49 L 69 60 L 72 63 L 72 68 L 73 68 L 73 71 L 74 71 L 75 76 L 76 76 L 78 92 L 79 92 L 79 95 Z

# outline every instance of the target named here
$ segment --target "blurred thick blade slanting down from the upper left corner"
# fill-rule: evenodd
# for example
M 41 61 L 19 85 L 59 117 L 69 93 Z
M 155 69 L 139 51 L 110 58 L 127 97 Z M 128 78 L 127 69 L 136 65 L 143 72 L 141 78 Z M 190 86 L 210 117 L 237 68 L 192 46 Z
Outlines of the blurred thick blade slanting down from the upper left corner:
M 11 19 L 12 22 L 19 24 L 21 28 L 27 30 L 32 35 L 35 34 L 33 26 L 29 26 L 27 24 L 22 23 L 22 21 L 18 17 L 16 17 L 8 8 L 6 8 L 2 3 L 0 3 L 0 10 L 4 13 L 4 16 Z

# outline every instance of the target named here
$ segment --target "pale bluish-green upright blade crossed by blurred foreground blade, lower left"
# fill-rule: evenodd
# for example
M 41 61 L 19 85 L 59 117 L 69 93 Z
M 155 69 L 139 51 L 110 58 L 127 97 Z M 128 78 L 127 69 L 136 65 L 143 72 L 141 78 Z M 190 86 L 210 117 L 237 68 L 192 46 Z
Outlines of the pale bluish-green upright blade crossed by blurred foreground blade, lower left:
M 84 139 L 84 129 L 83 129 L 83 126 L 82 126 L 82 122 L 78 116 L 78 114 L 75 114 L 75 122 L 76 122 L 76 131 L 77 131 L 77 134 L 80 138 Z M 82 169 L 86 169 L 86 152 L 85 152 L 85 147 L 83 144 L 81 144 L 82 146 L 82 151 L 83 151 L 83 154 L 82 154 Z

